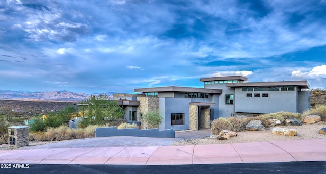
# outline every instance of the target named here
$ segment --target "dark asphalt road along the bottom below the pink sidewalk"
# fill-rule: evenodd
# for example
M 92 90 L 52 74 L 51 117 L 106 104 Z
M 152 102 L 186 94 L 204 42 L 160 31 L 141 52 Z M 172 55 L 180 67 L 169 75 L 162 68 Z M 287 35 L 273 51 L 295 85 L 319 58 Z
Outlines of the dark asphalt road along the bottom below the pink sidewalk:
M 21 166 L 22 167 L 22 166 Z M 326 173 L 326 161 L 206 165 L 57 165 L 29 164 L 0 173 Z

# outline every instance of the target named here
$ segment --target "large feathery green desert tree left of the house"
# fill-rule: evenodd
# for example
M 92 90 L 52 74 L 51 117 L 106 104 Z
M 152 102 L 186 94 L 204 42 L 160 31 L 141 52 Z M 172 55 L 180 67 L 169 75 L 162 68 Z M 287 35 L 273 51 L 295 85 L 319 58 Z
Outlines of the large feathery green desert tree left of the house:
M 106 94 L 91 95 L 80 104 L 87 105 L 88 112 L 85 112 L 86 119 L 82 125 L 105 125 L 108 120 L 120 119 L 124 112 L 117 101 L 109 100 Z

